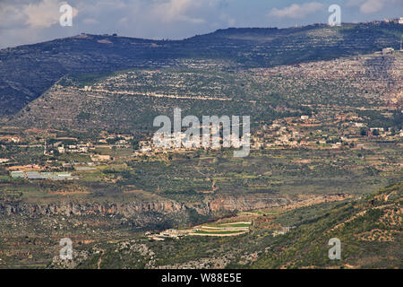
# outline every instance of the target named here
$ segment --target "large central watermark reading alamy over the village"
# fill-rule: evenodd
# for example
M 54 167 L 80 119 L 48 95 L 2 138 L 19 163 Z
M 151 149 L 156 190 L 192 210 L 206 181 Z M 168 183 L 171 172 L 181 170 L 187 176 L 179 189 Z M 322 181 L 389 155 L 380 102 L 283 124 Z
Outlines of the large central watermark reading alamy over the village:
M 233 147 L 234 157 L 245 157 L 250 152 L 250 116 L 186 116 L 182 119 L 181 109 L 174 109 L 174 126 L 167 116 L 154 118 L 153 126 L 161 126 L 153 136 L 153 144 L 159 149 L 200 148 L 219 149 Z M 242 126 L 242 136 L 240 127 Z M 173 128 L 172 128 L 173 127 Z M 182 132 L 183 127 L 188 127 Z M 222 127 L 222 134 L 220 133 Z M 172 132 L 173 131 L 173 132 Z

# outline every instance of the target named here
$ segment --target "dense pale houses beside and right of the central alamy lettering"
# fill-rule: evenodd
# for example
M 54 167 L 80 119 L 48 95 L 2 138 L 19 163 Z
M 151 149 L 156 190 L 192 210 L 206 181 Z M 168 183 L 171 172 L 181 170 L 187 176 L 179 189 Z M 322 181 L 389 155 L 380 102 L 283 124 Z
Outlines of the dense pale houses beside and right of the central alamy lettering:
M 315 126 L 332 126 L 334 124 L 342 126 L 342 131 L 323 132 L 321 128 L 314 129 Z M 365 135 L 361 135 L 362 128 L 367 128 Z M 334 135 L 331 135 L 334 134 Z M 318 119 L 314 116 L 303 115 L 301 117 L 287 117 L 279 120 L 274 120 L 270 125 L 263 125 L 260 130 L 251 135 L 251 148 L 263 149 L 276 146 L 287 147 L 304 147 L 322 144 L 322 147 L 339 149 L 343 145 L 354 143 L 365 137 L 379 136 L 380 138 L 403 136 L 403 130 L 392 132 L 391 128 L 384 127 L 367 127 L 364 119 L 357 117 L 354 114 L 339 115 L 336 117 Z M 197 147 L 185 147 L 182 144 L 180 147 L 175 147 L 174 144 L 167 144 L 164 147 L 162 144 L 175 143 L 176 138 L 185 141 L 184 133 L 172 134 L 170 137 L 157 142 L 153 138 L 147 138 L 139 142 L 139 149 L 133 152 L 134 156 L 147 155 L 152 156 L 158 153 L 166 152 L 187 152 Z M 223 143 L 223 138 L 219 137 L 219 142 Z M 357 144 L 360 147 L 363 144 Z M 201 147 L 202 148 L 202 147 Z

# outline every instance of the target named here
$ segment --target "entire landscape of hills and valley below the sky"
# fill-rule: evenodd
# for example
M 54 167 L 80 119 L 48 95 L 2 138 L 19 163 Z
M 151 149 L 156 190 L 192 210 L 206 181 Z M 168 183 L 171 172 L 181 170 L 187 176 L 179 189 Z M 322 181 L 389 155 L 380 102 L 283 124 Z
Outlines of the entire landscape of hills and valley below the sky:
M 401 268 L 402 27 L 0 50 L 0 268 Z M 157 146 L 174 109 L 250 116 L 250 152 Z

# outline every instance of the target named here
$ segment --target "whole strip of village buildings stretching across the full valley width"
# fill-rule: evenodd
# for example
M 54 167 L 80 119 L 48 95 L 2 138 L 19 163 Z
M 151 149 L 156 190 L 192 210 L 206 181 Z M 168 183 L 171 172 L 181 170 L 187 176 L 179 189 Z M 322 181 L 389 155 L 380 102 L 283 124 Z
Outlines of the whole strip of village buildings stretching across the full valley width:
M 11 145 L 24 149 L 43 150 L 45 162 L 40 164 L 23 165 L 20 167 L 18 161 L 12 158 L 1 158 L 0 164 L 10 170 L 13 178 L 50 178 L 50 179 L 77 179 L 71 174 L 57 176 L 54 174 L 28 173 L 39 171 L 72 171 L 72 170 L 96 170 L 100 164 L 107 164 L 116 160 L 114 152 L 126 151 L 124 156 L 118 157 L 122 160 L 141 159 L 143 157 L 154 157 L 159 154 L 170 152 L 193 152 L 197 147 L 184 146 L 176 147 L 170 144 L 167 147 L 156 146 L 153 138 L 144 138 L 141 141 L 133 141 L 133 135 L 108 134 L 102 132 L 97 139 L 92 141 L 80 141 L 73 137 L 42 138 L 39 135 L 23 137 L 21 135 L 2 135 L 0 143 L 2 149 Z M 173 133 L 172 138 L 166 141 L 175 141 L 176 137 L 184 139 L 184 132 Z M 274 120 L 270 125 L 262 125 L 254 130 L 251 135 L 251 149 L 365 149 L 374 141 L 401 141 L 403 130 L 394 130 L 391 127 L 367 126 L 364 118 L 358 117 L 355 113 L 339 114 L 336 117 L 329 115 L 306 115 L 301 117 L 286 117 Z M 29 138 L 35 138 L 29 142 Z M 222 143 L 222 135 L 219 137 Z M 206 149 L 201 147 L 201 149 Z M 210 148 L 212 149 L 212 148 Z M 217 148 L 216 148 L 217 149 Z M 88 161 L 65 161 L 57 159 L 60 156 L 82 155 Z M 53 160 L 52 160 L 53 159 Z M 39 165 L 41 165 L 39 167 Z M 25 172 L 25 173 L 24 173 Z

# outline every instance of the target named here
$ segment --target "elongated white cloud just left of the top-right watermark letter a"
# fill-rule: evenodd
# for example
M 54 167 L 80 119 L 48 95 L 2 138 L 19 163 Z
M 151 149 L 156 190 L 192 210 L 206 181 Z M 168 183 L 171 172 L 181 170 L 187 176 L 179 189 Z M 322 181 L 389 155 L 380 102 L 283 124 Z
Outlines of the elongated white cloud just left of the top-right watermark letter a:
M 304 4 L 292 4 L 283 9 L 273 8 L 269 15 L 279 18 L 303 19 L 309 14 L 321 11 L 324 4 L 319 2 L 309 2 Z

